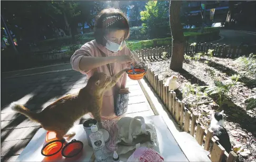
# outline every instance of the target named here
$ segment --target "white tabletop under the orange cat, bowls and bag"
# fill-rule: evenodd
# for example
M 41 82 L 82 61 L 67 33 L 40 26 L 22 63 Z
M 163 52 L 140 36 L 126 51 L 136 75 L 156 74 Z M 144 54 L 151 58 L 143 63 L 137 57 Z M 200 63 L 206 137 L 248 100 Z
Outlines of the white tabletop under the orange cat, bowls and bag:
M 164 161 L 189 161 L 182 152 L 178 143 L 175 141 L 173 135 L 162 120 L 161 116 L 147 116 L 144 118 L 146 123 L 149 123 L 149 120 L 152 120 L 155 125 L 157 138 L 159 141 L 159 151 L 161 156 L 163 156 Z M 83 152 L 85 154 L 83 153 L 83 155 L 80 157 L 80 159 L 77 159 L 77 161 L 90 161 L 93 150 L 92 147 L 87 145 L 87 139 L 83 125 L 75 125 L 73 129 L 76 131 L 76 135 L 69 139 L 69 141 L 76 139 L 83 142 L 84 144 Z M 16 161 L 46 161 L 45 157 L 41 154 L 41 149 L 45 143 L 45 135 L 45 129 L 40 128 L 28 143 L 26 148 L 23 150 L 21 155 L 18 156 Z M 133 152 L 131 151 L 124 155 L 120 155 L 120 160 L 126 161 L 132 153 Z M 63 157 L 62 160 L 58 161 L 66 160 Z

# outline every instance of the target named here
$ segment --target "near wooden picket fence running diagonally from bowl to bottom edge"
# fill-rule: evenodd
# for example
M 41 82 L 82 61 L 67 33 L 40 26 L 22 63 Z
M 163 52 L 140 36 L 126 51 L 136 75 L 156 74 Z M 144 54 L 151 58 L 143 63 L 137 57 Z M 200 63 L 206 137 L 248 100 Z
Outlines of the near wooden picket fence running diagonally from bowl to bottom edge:
M 150 68 L 147 69 L 145 78 L 149 81 L 157 95 L 159 95 L 182 131 L 195 137 L 199 145 L 202 146 L 204 143 L 204 149 L 210 152 L 209 158 L 211 161 L 219 162 L 222 161 L 222 158 L 225 158 L 227 162 L 237 160 L 237 154 L 233 151 L 227 153 L 220 145 L 218 137 L 213 136 L 213 131 L 210 128 L 205 128 L 197 120 L 198 115 L 186 109 L 184 102 L 176 98 L 176 93 L 169 91 L 168 86 L 164 86 L 163 80 L 160 80 L 158 75 L 154 74 L 154 71 L 151 71 Z

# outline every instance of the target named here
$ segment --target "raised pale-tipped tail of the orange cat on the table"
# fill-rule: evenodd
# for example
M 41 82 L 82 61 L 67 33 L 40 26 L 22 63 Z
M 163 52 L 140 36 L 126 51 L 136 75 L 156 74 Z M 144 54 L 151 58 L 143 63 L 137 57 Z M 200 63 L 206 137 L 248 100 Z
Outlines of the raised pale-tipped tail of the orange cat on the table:
M 39 115 L 37 113 L 34 113 L 32 111 L 29 111 L 26 107 L 23 105 L 18 104 L 17 102 L 13 102 L 10 104 L 10 107 L 13 111 L 19 112 L 25 116 L 27 116 L 29 119 L 40 123 L 39 121 Z

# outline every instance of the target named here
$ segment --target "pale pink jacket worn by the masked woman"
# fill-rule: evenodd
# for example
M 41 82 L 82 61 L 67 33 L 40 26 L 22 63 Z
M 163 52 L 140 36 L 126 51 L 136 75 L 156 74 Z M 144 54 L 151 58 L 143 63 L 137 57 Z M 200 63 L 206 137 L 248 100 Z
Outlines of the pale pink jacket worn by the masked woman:
M 129 55 L 132 58 L 133 53 L 131 52 L 131 50 L 129 48 L 127 48 L 126 46 L 124 46 L 122 48 L 122 50 L 118 51 L 118 52 L 112 52 L 110 50 L 107 50 L 104 46 L 97 44 L 96 40 L 92 40 L 90 42 L 87 42 L 86 44 L 84 44 L 80 49 L 78 49 L 77 51 L 75 51 L 74 55 L 71 57 L 71 64 L 72 64 L 72 68 L 76 71 L 80 71 L 83 74 L 87 74 L 87 77 L 90 78 L 93 73 L 95 71 L 97 72 L 104 72 L 108 75 L 110 74 L 109 69 L 107 68 L 106 65 L 92 69 L 92 70 L 88 70 L 88 71 L 82 71 L 79 68 L 79 62 L 82 59 L 82 57 L 104 57 L 101 55 L 100 50 L 106 54 L 106 56 L 122 56 L 122 55 Z M 137 62 L 133 62 L 132 63 L 133 66 L 136 66 Z M 125 69 L 127 67 L 130 68 L 131 64 L 130 63 L 111 63 L 111 69 L 113 71 L 114 74 L 118 73 L 119 71 L 121 71 L 122 69 Z M 111 120 L 114 119 L 118 116 L 115 115 L 115 111 L 114 111 L 114 100 L 116 98 L 116 94 L 120 89 L 125 88 L 126 85 L 126 79 L 127 79 L 127 73 L 123 74 L 123 77 L 116 83 L 116 85 L 109 91 L 106 91 L 104 93 L 103 96 L 103 103 L 102 103 L 102 112 L 101 112 L 101 116 L 103 120 Z

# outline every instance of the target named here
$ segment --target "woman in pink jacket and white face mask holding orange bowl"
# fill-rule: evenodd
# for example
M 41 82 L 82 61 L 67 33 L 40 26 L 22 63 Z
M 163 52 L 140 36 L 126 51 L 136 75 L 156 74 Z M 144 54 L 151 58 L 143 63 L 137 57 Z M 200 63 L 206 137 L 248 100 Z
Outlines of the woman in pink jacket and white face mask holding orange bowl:
M 136 62 L 133 53 L 125 45 L 130 28 L 124 14 L 119 9 L 104 9 L 95 21 L 95 40 L 87 42 L 75 51 L 71 57 L 72 68 L 87 74 L 90 78 L 94 72 L 104 72 L 113 76 L 120 70 L 134 67 L 145 68 Z M 117 93 L 124 89 L 127 74 L 124 73 L 116 85 L 103 95 L 101 117 L 103 120 L 115 119 L 115 104 Z

